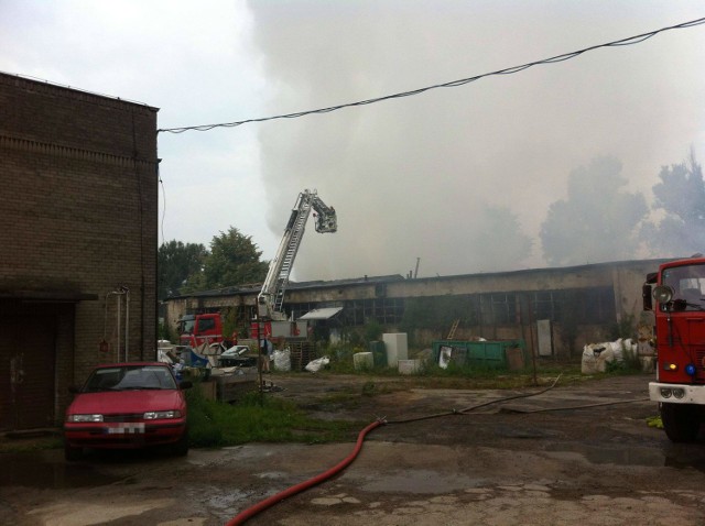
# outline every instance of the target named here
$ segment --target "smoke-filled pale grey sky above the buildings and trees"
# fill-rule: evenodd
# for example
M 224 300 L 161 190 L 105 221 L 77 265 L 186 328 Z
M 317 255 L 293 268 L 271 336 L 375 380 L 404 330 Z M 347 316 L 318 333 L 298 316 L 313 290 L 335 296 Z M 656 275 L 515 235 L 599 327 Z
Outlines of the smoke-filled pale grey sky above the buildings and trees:
M 155 106 L 175 128 L 390 95 L 702 17 L 685 0 L 0 0 L 0 70 Z M 691 147 L 705 160 L 703 64 L 697 26 L 327 114 L 162 133 L 163 239 L 208 244 L 234 226 L 270 259 L 311 188 L 339 231 L 308 223 L 295 280 L 405 274 L 416 257 L 420 276 L 543 266 L 539 229 L 573 169 L 616 156 L 651 199 L 662 165 Z M 484 206 L 509 207 L 532 253 L 492 261 Z

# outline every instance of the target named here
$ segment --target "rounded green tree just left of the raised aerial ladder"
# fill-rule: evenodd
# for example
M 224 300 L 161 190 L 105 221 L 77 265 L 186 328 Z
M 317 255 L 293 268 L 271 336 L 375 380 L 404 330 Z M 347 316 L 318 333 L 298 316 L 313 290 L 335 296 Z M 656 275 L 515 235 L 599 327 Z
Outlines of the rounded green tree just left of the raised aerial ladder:
M 260 283 L 267 276 L 268 262 L 250 235 L 230 227 L 210 241 L 210 254 L 204 261 L 199 288 L 223 288 L 243 283 Z

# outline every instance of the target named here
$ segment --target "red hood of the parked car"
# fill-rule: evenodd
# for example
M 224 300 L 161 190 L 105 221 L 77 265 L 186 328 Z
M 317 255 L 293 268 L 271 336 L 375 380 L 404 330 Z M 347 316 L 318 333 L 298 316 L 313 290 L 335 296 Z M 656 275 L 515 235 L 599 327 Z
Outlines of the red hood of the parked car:
M 183 393 L 177 390 L 108 391 L 76 395 L 67 413 L 87 415 L 183 410 L 184 406 Z

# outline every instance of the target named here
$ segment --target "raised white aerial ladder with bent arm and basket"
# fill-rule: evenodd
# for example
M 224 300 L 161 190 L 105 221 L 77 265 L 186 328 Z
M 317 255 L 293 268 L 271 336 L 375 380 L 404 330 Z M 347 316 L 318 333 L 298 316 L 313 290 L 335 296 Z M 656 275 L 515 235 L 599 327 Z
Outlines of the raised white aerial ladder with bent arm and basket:
M 338 230 L 335 209 L 323 202 L 316 190 L 306 189 L 299 194 L 276 255 L 269 265 L 262 289 L 257 296 L 257 313 L 260 320 L 286 319 L 283 308 L 284 292 L 312 208 L 314 209 L 316 232 L 333 233 Z

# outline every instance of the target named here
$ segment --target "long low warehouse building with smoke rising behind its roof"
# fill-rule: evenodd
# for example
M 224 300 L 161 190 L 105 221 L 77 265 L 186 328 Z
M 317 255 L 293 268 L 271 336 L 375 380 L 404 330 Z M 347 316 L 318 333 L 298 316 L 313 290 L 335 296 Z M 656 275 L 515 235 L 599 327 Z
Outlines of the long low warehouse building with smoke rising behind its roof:
M 290 318 L 325 327 L 318 333 L 333 340 L 375 322 L 388 332 L 408 332 L 422 348 L 445 338 L 457 321 L 455 338 L 521 338 L 536 354 L 571 357 L 585 343 L 609 338 L 620 325 L 639 324 L 641 286 L 663 261 L 290 283 L 284 306 Z M 172 297 L 165 302 L 166 321 L 175 330 L 185 314 L 220 311 L 247 327 L 258 293 L 258 286 L 246 285 Z

